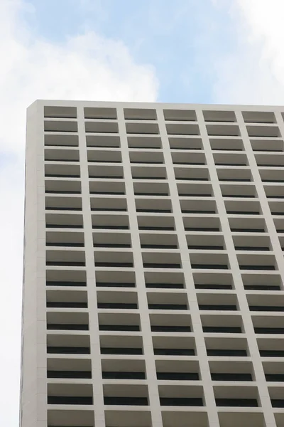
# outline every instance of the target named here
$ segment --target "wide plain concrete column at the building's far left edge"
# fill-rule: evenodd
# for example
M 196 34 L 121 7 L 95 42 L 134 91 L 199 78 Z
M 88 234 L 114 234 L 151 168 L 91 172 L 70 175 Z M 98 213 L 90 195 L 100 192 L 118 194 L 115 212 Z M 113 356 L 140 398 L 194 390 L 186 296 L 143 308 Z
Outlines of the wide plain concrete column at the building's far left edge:
M 20 424 L 47 425 L 43 104 L 28 110 Z

